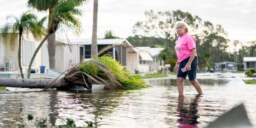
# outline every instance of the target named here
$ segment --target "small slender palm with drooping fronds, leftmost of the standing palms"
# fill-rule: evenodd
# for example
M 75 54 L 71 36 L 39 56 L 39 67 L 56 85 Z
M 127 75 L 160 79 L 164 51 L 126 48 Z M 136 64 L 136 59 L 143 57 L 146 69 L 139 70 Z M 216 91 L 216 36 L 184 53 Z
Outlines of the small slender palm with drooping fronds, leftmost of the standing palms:
M 34 36 L 35 40 L 39 40 L 42 36 L 42 31 L 41 31 L 41 25 L 42 24 L 37 24 L 37 16 L 34 14 L 29 13 L 29 11 L 23 13 L 20 18 L 17 18 L 13 15 L 7 16 L 7 20 L 13 18 L 13 22 L 6 23 L 3 28 L 1 28 L 1 33 L 2 33 L 2 39 L 4 44 L 6 45 L 7 42 L 9 41 L 8 39 L 10 38 L 10 47 L 11 50 L 14 51 L 15 49 L 15 39 L 18 36 L 19 32 L 19 50 L 18 50 L 18 60 L 19 60 L 19 68 L 20 68 L 20 73 L 21 77 L 24 78 L 24 74 L 22 71 L 22 66 L 21 66 L 21 38 L 22 34 L 26 33 L 28 36 L 28 33 L 32 33 Z M 11 32 L 10 32 L 11 31 Z M 10 32 L 10 34 L 8 34 Z

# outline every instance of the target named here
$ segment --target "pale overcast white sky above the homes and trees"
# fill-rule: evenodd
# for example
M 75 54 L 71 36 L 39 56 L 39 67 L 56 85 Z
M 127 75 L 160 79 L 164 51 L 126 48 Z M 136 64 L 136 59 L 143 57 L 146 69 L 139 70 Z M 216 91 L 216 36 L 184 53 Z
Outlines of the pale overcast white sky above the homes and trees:
M 1 0 L 0 26 L 6 23 L 7 15 L 19 17 L 27 11 L 26 3 L 27 0 Z M 81 9 L 83 32 L 79 37 L 69 34 L 70 39 L 92 38 L 93 0 Z M 231 41 L 256 40 L 256 0 L 98 0 L 98 38 L 109 30 L 121 38 L 133 36 L 133 25 L 145 21 L 144 12 L 151 9 L 155 13 L 181 10 L 213 25 L 221 24 Z

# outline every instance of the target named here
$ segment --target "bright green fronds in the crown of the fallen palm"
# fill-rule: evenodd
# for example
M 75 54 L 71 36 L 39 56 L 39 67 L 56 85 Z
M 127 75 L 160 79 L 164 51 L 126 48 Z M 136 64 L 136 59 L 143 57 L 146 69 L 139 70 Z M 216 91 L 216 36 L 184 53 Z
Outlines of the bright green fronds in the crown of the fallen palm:
M 101 57 L 94 57 L 92 60 L 82 63 L 79 66 L 79 69 L 88 73 L 88 70 L 91 70 L 93 68 L 84 67 L 84 65 L 88 65 L 88 63 L 93 62 L 98 63 L 97 66 L 95 66 L 98 67 L 98 74 L 95 75 L 95 77 L 97 77 L 97 79 L 99 79 L 100 81 L 104 81 L 103 83 L 107 82 L 108 84 L 109 81 L 110 83 L 119 82 L 124 88 L 148 87 L 148 84 L 142 79 L 142 76 L 132 74 L 131 72 L 126 70 L 124 66 L 122 66 L 117 60 L 112 59 L 112 57 L 109 57 L 107 55 L 103 55 Z

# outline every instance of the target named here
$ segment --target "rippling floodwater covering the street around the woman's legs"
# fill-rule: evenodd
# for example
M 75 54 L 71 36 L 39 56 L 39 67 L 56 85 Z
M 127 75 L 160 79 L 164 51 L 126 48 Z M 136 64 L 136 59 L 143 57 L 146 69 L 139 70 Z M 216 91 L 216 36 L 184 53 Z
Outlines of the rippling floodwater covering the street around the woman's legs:
M 204 95 L 184 80 L 184 97 L 178 96 L 175 79 L 145 79 L 155 87 L 100 91 L 0 91 L 0 127 L 36 128 L 36 120 L 47 126 L 77 127 L 91 121 L 98 128 L 206 127 L 218 116 L 244 103 L 256 128 L 256 85 L 228 85 L 229 79 L 198 79 Z M 28 115 L 33 120 L 28 120 Z

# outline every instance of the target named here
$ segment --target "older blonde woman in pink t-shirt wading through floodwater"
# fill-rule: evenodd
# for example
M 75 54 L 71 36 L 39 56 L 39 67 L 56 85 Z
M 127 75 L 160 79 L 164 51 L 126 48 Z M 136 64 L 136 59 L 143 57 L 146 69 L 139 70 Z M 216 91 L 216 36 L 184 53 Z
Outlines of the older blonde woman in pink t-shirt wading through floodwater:
M 189 26 L 182 21 L 177 21 L 176 32 L 180 36 L 178 37 L 175 51 L 178 57 L 175 72 L 177 72 L 177 84 L 179 95 L 183 95 L 183 80 L 188 79 L 191 84 L 196 88 L 199 94 L 203 94 L 201 85 L 196 79 L 197 75 L 197 50 L 196 50 L 196 41 L 195 39 L 188 34 Z M 183 70 L 183 71 L 182 71 Z

